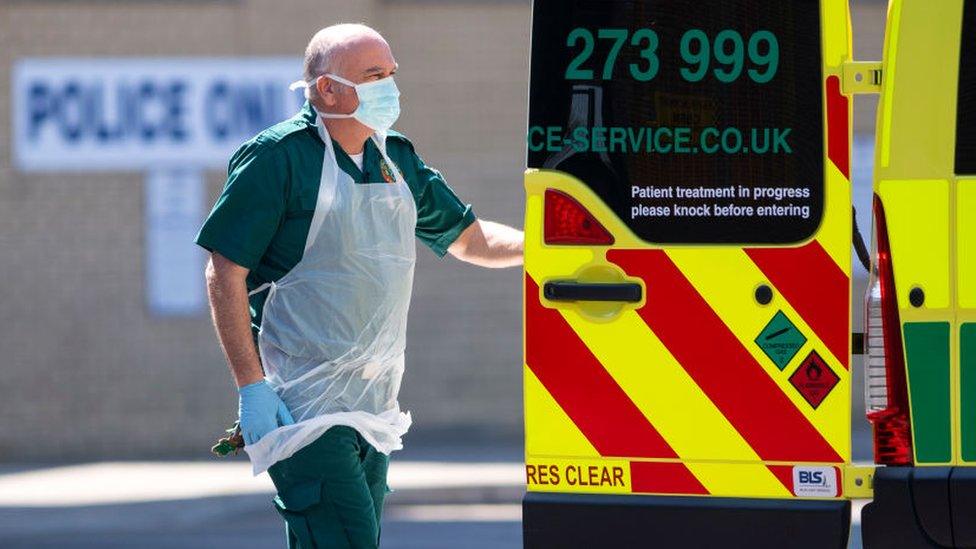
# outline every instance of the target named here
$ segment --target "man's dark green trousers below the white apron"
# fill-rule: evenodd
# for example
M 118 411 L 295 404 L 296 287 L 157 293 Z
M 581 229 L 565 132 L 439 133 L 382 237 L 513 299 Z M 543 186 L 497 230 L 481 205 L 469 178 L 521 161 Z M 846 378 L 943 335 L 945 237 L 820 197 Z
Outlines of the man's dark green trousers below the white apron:
M 288 549 L 378 547 L 389 463 L 355 429 L 340 426 L 272 465 Z

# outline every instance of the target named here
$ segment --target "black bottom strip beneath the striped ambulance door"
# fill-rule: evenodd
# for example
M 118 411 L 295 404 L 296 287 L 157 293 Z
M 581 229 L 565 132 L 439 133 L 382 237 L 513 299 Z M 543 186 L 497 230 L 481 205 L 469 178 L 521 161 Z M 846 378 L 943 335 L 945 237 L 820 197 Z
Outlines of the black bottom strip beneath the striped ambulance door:
M 522 500 L 525 549 L 842 549 L 850 522 L 848 500 L 540 492 Z

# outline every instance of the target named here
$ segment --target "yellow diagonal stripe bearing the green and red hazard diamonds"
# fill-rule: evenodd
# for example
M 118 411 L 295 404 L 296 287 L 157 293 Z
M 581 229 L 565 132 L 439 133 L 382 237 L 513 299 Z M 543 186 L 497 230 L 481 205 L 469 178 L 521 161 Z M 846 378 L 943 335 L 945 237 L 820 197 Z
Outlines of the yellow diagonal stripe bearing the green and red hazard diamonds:
M 766 373 L 776 382 L 804 417 L 819 431 L 835 451 L 850 459 L 850 372 L 846 370 L 817 338 L 816 333 L 778 292 L 769 305 L 755 301 L 756 286 L 767 282 L 762 271 L 741 249 L 674 248 L 668 256 L 722 318 L 740 342 L 756 357 Z M 755 338 L 777 310 L 790 319 L 807 338 L 807 342 L 781 372 L 755 343 Z M 814 410 L 789 382 L 789 375 L 815 349 L 840 381 Z M 783 436 L 789 436 L 784 433 Z

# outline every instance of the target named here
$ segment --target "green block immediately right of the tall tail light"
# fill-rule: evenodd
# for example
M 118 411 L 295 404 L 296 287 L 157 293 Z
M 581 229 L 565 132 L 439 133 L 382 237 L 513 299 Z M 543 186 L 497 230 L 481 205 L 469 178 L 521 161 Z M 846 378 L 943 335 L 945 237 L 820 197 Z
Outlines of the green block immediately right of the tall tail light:
M 916 463 L 952 460 L 949 410 L 949 323 L 905 324 Z

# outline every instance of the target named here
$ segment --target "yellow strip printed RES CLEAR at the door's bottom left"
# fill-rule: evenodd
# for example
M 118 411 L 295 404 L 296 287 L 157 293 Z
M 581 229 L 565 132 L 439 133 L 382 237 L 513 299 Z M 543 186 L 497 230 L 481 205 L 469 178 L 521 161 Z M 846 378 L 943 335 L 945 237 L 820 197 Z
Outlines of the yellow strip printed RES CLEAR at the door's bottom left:
M 631 491 L 630 462 L 616 459 L 529 458 L 525 480 L 533 492 L 626 494 Z

